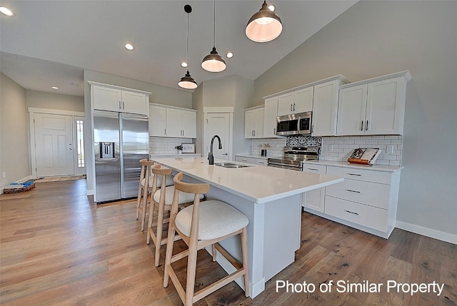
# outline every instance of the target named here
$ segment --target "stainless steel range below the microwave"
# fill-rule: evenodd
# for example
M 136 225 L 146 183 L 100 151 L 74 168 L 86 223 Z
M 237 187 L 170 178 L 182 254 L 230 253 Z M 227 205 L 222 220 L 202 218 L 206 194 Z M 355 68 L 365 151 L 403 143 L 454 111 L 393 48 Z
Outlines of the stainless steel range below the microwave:
M 301 171 L 303 170 L 303 161 L 317 160 L 319 158 L 319 147 L 284 147 L 282 158 L 268 158 L 268 166 L 291 169 Z

